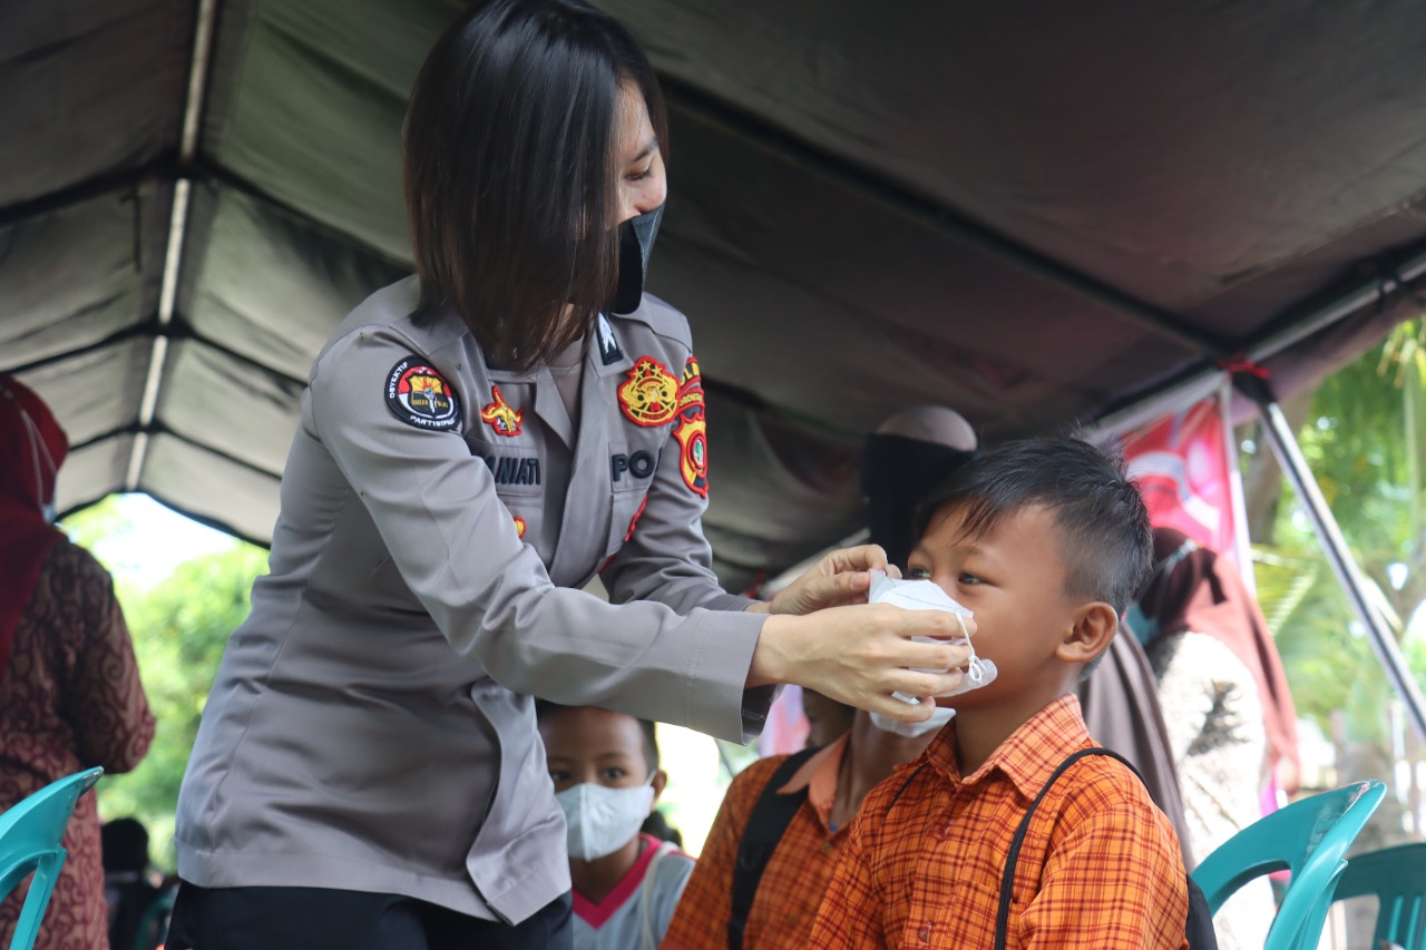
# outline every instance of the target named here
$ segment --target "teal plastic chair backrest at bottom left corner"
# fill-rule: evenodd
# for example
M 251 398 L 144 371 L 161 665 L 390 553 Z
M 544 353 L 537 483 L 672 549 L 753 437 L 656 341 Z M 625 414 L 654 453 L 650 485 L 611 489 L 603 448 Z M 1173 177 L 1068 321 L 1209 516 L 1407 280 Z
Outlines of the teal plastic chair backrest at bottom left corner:
M 20 910 L 10 950 L 30 950 L 50 906 L 54 882 L 67 852 L 60 842 L 74 814 L 74 803 L 94 787 L 103 769 L 88 769 L 53 782 L 0 814 L 0 897 L 34 873 Z

